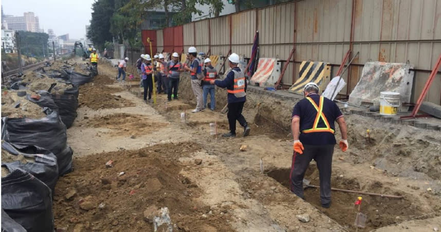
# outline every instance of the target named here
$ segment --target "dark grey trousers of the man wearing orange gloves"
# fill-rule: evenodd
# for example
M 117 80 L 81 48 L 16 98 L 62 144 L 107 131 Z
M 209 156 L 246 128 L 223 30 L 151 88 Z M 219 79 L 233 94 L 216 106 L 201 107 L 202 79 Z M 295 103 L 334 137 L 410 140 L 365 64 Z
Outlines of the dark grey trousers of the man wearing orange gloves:
M 294 152 L 292 155 L 291 173 L 291 191 L 297 196 L 303 197 L 303 178 L 306 169 L 311 160 L 315 160 L 319 169 L 320 177 L 320 199 L 322 204 L 327 204 L 331 200 L 330 178 L 332 172 L 332 156 L 334 154 L 334 145 L 307 145 L 303 154 Z

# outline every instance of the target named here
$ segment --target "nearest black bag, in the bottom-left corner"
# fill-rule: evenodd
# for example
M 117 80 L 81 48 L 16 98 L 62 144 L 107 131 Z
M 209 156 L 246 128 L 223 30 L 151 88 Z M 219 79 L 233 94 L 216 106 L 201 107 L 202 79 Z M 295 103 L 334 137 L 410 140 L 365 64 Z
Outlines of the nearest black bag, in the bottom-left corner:
M 25 170 L 2 178 L 2 208 L 28 232 L 53 231 L 51 190 Z

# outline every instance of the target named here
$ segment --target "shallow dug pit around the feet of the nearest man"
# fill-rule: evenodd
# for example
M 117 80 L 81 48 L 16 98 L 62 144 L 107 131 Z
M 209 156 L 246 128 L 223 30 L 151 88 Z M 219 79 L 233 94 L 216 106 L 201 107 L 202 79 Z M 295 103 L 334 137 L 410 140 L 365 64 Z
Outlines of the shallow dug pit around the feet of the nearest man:
M 291 169 L 274 169 L 267 172 L 267 175 L 289 189 L 289 173 Z M 305 173 L 305 179 L 311 181 L 311 185 L 319 185 L 319 173 L 315 164 L 310 164 Z M 356 179 L 332 177 L 333 188 L 360 190 L 360 184 Z M 401 195 L 403 199 L 382 198 L 369 195 L 351 194 L 341 191 L 332 191 L 332 205 L 330 208 L 321 207 L 320 189 L 306 188 L 304 197 L 307 202 L 317 207 L 326 216 L 334 219 L 346 229 L 355 230 L 354 226 L 357 208 L 354 202 L 357 197 L 363 197 L 361 212 L 367 215 L 366 227 L 359 231 L 370 231 L 407 219 L 411 219 L 424 212 L 421 206 L 408 200 L 404 192 L 394 191 L 389 187 L 383 187 L 381 182 L 374 182 L 367 189 L 360 191 L 377 192 L 382 194 Z

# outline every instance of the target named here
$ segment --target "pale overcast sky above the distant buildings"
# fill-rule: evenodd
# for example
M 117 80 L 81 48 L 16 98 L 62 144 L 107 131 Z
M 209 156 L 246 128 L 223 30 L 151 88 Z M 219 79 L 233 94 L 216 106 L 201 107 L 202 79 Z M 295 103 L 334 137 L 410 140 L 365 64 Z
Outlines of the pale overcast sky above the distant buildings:
M 69 33 L 70 40 L 84 38 L 89 25 L 94 0 L 2 0 L 3 13 L 23 16 L 34 12 L 40 28 L 53 29 L 57 35 Z

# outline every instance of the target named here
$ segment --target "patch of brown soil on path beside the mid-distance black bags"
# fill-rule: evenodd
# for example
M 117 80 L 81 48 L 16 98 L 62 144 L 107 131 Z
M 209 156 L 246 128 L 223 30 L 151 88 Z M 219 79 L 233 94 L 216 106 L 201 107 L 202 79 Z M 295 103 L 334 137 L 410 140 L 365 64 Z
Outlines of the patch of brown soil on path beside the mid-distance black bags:
M 111 88 L 105 85 L 87 83 L 80 86 L 80 95 L 78 98 L 79 106 L 87 106 L 91 109 L 123 108 L 135 106 L 134 103 L 121 98 L 120 95 L 112 94 L 120 91 L 122 91 L 122 89 L 120 88 Z

